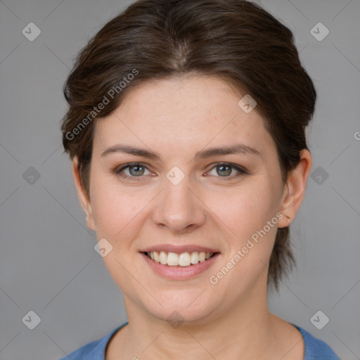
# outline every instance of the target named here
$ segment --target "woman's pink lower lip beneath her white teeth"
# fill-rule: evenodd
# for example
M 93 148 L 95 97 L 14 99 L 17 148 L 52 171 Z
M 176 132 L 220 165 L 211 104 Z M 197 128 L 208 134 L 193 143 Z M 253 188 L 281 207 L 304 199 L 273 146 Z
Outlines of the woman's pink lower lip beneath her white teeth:
M 154 262 L 154 260 L 150 259 L 150 257 L 145 255 L 143 252 L 141 252 L 141 255 L 155 273 L 168 278 L 169 280 L 187 280 L 209 269 L 209 267 L 214 264 L 220 253 L 217 252 L 214 256 L 210 257 L 210 259 L 205 260 L 205 262 L 198 262 L 198 264 L 190 266 L 163 265 L 158 262 Z

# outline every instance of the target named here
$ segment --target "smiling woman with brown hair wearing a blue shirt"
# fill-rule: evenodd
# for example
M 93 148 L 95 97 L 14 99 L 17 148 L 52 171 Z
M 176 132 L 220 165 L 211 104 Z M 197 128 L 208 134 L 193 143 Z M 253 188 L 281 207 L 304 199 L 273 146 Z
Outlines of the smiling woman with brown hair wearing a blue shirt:
M 136 1 L 64 93 L 63 145 L 129 319 L 70 359 L 338 359 L 267 307 L 294 262 L 316 101 L 287 27 L 248 1 Z

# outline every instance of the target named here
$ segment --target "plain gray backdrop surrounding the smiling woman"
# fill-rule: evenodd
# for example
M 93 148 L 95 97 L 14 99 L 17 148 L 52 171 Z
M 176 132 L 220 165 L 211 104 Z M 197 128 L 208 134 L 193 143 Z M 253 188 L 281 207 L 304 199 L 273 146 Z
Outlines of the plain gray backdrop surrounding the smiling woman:
M 1 360 L 59 359 L 127 319 L 94 251 L 59 127 L 77 51 L 131 2 L 0 0 Z M 291 225 L 297 269 L 269 306 L 342 359 L 360 359 L 360 2 L 262 3 L 295 33 L 319 96 L 307 133 L 311 178 Z M 41 30 L 34 41 L 22 34 L 30 22 Z M 322 41 L 310 32 L 319 22 L 330 31 Z M 33 330 L 22 321 L 30 310 L 41 319 Z M 330 319 L 321 330 L 310 321 L 319 310 Z

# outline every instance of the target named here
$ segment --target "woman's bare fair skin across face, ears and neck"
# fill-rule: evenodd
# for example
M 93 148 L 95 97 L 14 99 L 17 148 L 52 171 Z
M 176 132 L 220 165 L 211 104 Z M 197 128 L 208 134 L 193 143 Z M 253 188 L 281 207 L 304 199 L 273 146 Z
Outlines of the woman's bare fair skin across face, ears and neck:
M 288 226 L 302 203 L 311 155 L 302 150 L 284 185 L 264 120 L 256 108 L 245 113 L 239 100 L 216 77 L 146 82 L 131 89 L 115 113 L 96 122 L 89 196 L 74 159 L 87 224 L 113 246 L 103 260 L 122 290 L 129 318 L 110 340 L 107 360 L 303 359 L 300 332 L 268 310 L 266 278 L 276 229 Z M 118 143 L 155 151 L 162 161 L 120 152 L 101 157 Z M 260 155 L 194 160 L 204 148 L 235 143 Z M 142 177 L 136 176 L 139 169 L 135 176 L 123 170 L 139 181 L 115 173 L 129 162 L 147 166 Z M 240 165 L 248 174 L 235 176 L 233 168 L 224 175 L 216 162 Z M 185 176 L 176 186 L 166 177 L 174 166 Z M 216 285 L 210 283 L 210 276 L 278 212 L 283 217 L 276 226 Z M 139 253 L 159 243 L 204 245 L 221 254 L 198 276 L 170 281 L 155 274 Z M 174 311 L 184 319 L 178 328 L 167 321 Z

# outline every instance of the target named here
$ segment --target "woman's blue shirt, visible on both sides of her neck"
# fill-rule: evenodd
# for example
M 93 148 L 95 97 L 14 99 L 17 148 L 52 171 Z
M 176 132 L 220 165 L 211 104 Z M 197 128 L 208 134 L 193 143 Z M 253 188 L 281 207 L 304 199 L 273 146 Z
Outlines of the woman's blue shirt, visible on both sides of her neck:
M 127 325 L 124 323 L 122 326 L 119 326 L 115 330 L 108 333 L 104 338 L 100 340 L 96 340 L 93 342 L 89 342 L 79 349 L 75 350 L 68 354 L 68 356 L 62 357 L 60 360 L 105 360 L 105 348 L 108 345 L 108 342 L 112 335 L 114 335 L 117 330 Z M 304 360 L 340 360 L 339 356 L 333 352 L 326 342 L 314 338 L 314 336 L 310 335 L 306 330 L 296 326 L 292 323 L 297 330 L 302 334 L 302 338 L 304 338 L 305 344 L 305 355 Z

